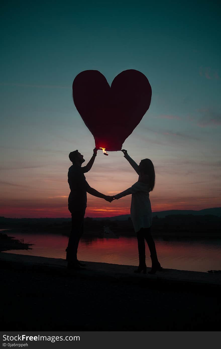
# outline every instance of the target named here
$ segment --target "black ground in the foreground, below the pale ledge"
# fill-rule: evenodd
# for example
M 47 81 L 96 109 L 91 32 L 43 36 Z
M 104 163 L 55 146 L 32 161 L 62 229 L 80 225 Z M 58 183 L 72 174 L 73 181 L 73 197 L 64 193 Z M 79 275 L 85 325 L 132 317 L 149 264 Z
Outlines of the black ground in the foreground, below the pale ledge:
M 220 289 L 2 264 L 2 331 L 219 331 Z

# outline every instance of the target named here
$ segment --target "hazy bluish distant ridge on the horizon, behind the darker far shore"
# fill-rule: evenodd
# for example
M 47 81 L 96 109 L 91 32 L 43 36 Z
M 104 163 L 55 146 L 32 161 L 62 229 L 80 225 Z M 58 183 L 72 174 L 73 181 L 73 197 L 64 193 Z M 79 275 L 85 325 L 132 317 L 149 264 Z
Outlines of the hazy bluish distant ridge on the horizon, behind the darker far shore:
M 157 211 L 153 212 L 153 217 L 157 216 L 158 218 L 165 218 L 169 215 L 194 215 L 194 216 L 203 216 L 203 215 L 213 215 L 221 217 L 221 207 L 214 208 L 205 208 L 203 210 L 168 210 L 168 211 Z M 130 215 L 120 215 L 114 217 L 97 217 L 93 218 L 94 220 L 110 220 L 110 221 L 126 221 Z

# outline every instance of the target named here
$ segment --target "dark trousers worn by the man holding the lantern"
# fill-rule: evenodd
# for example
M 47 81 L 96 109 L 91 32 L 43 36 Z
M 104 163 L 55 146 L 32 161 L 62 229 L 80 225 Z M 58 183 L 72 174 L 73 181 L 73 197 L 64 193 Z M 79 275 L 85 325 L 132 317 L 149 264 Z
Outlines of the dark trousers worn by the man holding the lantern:
M 77 260 L 78 244 L 84 229 L 85 210 L 85 206 L 71 209 L 71 235 L 66 250 L 66 259 L 69 262 L 75 262 Z

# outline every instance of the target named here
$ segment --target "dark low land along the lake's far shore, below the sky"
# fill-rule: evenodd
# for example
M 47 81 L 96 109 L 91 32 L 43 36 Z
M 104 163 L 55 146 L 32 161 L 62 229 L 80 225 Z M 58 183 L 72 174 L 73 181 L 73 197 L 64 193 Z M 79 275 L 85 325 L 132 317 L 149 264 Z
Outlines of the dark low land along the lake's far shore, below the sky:
M 197 234 L 201 236 L 219 235 L 221 232 L 221 208 L 194 210 L 168 210 L 153 213 L 153 233 L 158 234 Z M 84 233 L 96 237 L 104 236 L 104 228 L 117 236 L 133 236 L 134 228 L 130 215 L 115 217 L 84 218 Z M 70 218 L 5 218 L 0 217 L 0 229 L 11 229 L 14 232 L 47 232 L 69 235 Z M 201 235 L 200 235 L 201 234 Z

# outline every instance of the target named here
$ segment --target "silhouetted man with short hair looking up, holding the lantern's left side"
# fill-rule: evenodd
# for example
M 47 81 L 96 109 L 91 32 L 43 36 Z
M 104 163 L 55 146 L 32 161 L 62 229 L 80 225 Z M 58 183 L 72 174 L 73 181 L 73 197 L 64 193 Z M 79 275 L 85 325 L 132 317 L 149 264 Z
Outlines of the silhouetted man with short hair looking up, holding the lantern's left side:
M 69 154 L 69 159 L 72 166 L 68 170 L 68 184 L 70 194 L 68 196 L 68 209 L 71 212 L 72 228 L 67 246 L 66 259 L 68 261 L 68 269 L 83 269 L 84 266 L 77 259 L 78 244 L 83 234 L 84 214 L 87 207 L 87 193 L 96 196 L 97 198 L 105 199 L 111 202 L 110 196 L 99 193 L 94 188 L 91 188 L 86 181 L 84 173 L 90 171 L 97 156 L 97 149 L 84 167 L 81 167 L 85 161 L 83 155 L 78 150 L 72 151 Z

